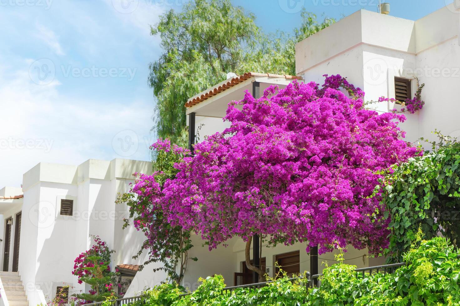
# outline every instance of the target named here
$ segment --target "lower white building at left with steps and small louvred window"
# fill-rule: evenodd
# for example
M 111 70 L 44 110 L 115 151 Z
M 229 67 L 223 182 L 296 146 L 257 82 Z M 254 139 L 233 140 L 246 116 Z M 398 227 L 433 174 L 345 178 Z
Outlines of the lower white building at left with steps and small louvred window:
M 126 265 L 140 263 L 132 256 L 144 235 L 133 227 L 122 229 L 129 214 L 115 200 L 129 190 L 132 173 L 151 173 L 151 167 L 148 161 L 123 159 L 90 159 L 79 166 L 39 163 L 23 175 L 22 190 L 1 189 L 0 259 L 8 272 L 0 273 L 0 303 L 46 304 L 64 284 L 73 293 L 87 292 L 72 270 L 75 258 L 91 247 L 91 235 L 116 250 L 111 263 L 121 265 L 124 275 L 134 274 L 136 266 Z

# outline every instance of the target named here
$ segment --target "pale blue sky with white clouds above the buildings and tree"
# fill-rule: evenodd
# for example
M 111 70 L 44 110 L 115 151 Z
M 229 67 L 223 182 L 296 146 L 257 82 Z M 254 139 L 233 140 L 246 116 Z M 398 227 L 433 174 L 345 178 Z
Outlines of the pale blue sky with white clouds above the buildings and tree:
M 186 0 L 0 0 L 0 188 L 40 161 L 150 160 L 155 99 L 150 24 Z M 233 0 L 265 32 L 291 32 L 300 8 L 340 19 L 378 0 Z M 418 19 L 451 0 L 391 1 Z M 289 4 L 289 5 L 288 5 Z

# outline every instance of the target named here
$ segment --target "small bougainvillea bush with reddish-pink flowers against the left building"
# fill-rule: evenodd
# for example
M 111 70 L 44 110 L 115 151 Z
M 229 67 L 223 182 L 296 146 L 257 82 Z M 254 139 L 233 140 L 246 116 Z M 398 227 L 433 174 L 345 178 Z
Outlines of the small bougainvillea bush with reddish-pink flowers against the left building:
M 85 301 L 84 303 L 115 299 L 118 297 L 115 288 L 120 286 L 118 283 L 120 273 L 110 270 L 110 255 L 115 250 L 110 250 L 107 243 L 99 236 L 93 236 L 93 239 L 94 244 L 91 248 L 75 259 L 72 271 L 72 274 L 78 277 L 79 284 L 86 283 L 91 286 L 89 293 L 74 295 Z

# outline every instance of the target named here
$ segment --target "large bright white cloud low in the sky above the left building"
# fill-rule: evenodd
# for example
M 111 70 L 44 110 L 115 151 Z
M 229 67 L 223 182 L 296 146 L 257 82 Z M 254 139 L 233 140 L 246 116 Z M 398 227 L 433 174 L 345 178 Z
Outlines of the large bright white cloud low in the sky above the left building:
M 153 106 L 75 100 L 59 93 L 59 82 L 33 83 L 26 69 L 0 83 L 0 188 L 19 186 L 23 173 L 41 161 L 150 159 Z

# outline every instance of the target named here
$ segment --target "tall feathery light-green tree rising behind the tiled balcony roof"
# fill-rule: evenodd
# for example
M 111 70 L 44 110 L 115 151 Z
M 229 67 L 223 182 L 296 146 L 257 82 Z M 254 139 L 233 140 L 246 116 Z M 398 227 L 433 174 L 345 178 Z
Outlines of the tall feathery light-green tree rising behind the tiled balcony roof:
M 230 0 L 195 0 L 182 12 L 170 10 L 151 27 L 163 50 L 150 63 L 149 84 L 157 98 L 155 132 L 176 140 L 183 134 L 184 104 L 188 98 L 222 82 L 228 72 L 248 71 L 295 74 L 295 44 L 327 27 L 334 19 L 318 22 L 302 12 L 294 35 L 265 35 L 255 16 Z

